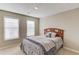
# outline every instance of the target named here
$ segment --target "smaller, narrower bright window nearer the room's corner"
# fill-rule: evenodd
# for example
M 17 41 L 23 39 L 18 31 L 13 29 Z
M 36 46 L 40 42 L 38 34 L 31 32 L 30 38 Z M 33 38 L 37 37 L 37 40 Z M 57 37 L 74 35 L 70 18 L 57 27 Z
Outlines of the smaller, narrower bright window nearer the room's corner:
M 35 22 L 27 21 L 27 36 L 35 35 Z

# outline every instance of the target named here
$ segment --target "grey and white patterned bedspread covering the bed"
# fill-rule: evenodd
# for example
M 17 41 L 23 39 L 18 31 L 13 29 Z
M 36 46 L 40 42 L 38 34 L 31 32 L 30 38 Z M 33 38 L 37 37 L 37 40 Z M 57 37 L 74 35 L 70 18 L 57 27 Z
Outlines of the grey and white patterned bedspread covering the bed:
M 62 39 L 59 37 L 31 36 L 22 41 L 21 49 L 27 55 L 53 55 L 62 44 Z

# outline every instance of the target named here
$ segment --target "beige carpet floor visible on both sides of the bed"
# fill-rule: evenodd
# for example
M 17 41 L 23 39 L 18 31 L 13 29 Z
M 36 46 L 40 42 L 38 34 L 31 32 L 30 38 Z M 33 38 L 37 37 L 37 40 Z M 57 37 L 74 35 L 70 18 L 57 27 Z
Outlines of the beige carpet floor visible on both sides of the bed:
M 14 46 L 10 48 L 0 49 L 0 55 L 25 55 L 25 54 L 20 50 L 19 46 Z M 57 53 L 57 55 L 79 55 L 79 54 L 62 48 Z

